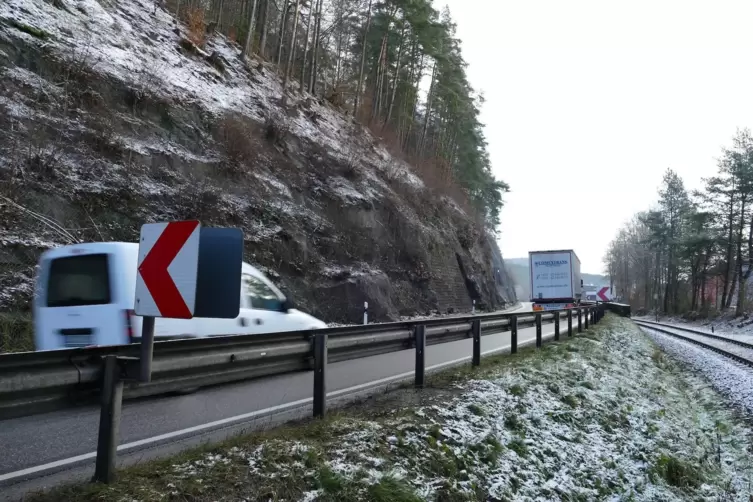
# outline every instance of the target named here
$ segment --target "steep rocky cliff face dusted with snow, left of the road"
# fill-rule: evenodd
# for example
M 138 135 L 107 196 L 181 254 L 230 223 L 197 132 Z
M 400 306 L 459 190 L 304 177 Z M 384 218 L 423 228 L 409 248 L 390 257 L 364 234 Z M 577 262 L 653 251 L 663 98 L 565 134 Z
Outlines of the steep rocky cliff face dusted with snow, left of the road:
M 514 300 L 465 208 L 238 55 L 152 0 L 0 4 L 0 308 L 28 308 L 49 247 L 185 218 L 243 228 L 245 259 L 330 322 Z

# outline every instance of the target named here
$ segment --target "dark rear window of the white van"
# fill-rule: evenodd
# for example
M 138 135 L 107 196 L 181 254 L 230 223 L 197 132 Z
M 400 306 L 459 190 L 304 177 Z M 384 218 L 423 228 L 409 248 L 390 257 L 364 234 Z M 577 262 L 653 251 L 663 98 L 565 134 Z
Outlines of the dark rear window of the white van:
M 56 258 L 50 263 L 48 307 L 79 307 L 110 303 L 107 254 Z

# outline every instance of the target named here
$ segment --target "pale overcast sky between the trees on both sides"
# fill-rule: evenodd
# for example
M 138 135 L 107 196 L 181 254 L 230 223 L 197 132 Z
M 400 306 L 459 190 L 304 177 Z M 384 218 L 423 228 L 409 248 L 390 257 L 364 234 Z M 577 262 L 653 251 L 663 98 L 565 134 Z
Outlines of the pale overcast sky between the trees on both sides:
M 435 0 L 450 7 L 494 172 L 506 258 L 572 248 L 603 271 L 671 167 L 689 188 L 753 126 L 751 1 Z M 576 226 L 577 225 L 577 226 Z

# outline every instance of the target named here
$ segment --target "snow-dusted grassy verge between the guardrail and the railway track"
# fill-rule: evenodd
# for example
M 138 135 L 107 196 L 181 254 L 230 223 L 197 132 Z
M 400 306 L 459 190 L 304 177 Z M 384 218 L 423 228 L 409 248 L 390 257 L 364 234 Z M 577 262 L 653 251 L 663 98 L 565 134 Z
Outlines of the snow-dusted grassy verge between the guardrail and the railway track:
M 745 500 L 743 422 L 629 320 L 30 500 Z

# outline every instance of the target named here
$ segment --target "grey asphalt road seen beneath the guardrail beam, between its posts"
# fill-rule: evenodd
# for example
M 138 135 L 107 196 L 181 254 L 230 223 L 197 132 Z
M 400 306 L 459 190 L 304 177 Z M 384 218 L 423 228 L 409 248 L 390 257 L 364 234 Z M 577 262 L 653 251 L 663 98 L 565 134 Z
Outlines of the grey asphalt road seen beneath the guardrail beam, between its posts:
M 565 332 L 566 326 L 561 327 Z M 552 324 L 544 325 L 543 335 L 553 336 Z M 520 344 L 534 339 L 535 328 L 519 330 Z M 484 336 L 482 352 L 509 350 L 509 343 L 509 332 Z M 470 359 L 471 350 L 470 339 L 427 347 L 427 370 L 462 363 Z M 328 400 L 410 379 L 414 357 L 414 350 L 404 350 L 332 363 L 327 369 Z M 288 407 L 310 405 L 312 381 L 311 372 L 300 372 L 205 388 L 189 395 L 127 400 L 123 403 L 119 454 L 158 449 L 228 424 L 249 423 Z M 0 486 L 74 466 L 93 468 L 98 424 L 96 406 L 0 421 Z

